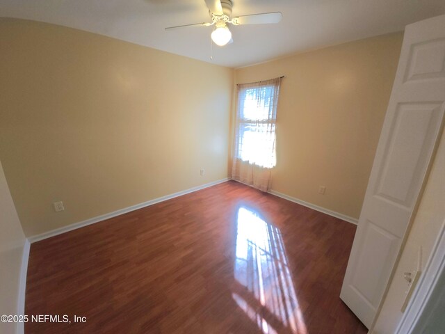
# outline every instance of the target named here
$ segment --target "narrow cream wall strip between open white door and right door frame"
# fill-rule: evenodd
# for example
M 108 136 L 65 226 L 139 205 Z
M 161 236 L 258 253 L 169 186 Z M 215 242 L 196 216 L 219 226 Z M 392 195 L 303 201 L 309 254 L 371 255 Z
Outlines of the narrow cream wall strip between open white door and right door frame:
M 382 309 L 375 321 L 371 333 L 394 333 L 401 320 L 401 307 L 405 300 L 408 284 L 403 278 L 405 272 L 415 272 L 419 258 L 419 247 L 422 248 L 421 271 L 424 271 L 432 247 L 443 228 L 445 218 L 445 135 L 442 134 L 430 176 L 421 198 L 407 241 L 400 260 L 396 264 L 394 277 L 389 283 L 389 290 L 382 303 Z

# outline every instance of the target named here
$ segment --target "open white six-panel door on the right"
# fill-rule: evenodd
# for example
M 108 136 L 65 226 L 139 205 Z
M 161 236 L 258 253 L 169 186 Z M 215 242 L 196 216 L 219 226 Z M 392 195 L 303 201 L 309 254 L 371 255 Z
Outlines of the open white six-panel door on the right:
M 426 176 L 445 109 L 445 15 L 410 24 L 341 299 L 369 328 Z M 444 172 L 445 173 L 445 172 Z

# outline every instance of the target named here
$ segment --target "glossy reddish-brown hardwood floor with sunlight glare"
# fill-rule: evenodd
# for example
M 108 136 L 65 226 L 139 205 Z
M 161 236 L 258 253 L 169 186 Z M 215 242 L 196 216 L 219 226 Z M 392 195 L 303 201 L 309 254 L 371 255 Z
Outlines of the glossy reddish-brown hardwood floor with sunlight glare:
M 366 333 L 339 299 L 354 233 L 218 184 L 32 244 L 26 314 L 71 324 L 25 333 Z

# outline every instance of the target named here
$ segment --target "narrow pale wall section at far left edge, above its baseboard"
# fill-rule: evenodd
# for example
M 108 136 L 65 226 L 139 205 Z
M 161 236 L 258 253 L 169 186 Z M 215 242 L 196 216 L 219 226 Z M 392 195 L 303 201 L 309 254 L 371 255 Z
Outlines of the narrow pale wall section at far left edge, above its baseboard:
M 0 163 L 0 315 L 17 315 L 20 269 L 25 243 Z M 0 322 L 0 333 L 15 333 L 16 325 Z

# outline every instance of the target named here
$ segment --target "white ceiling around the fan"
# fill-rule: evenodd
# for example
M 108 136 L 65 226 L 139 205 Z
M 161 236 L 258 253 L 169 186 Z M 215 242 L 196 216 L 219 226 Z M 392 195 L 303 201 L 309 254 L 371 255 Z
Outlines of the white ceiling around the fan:
M 241 67 L 394 31 L 445 13 L 444 0 L 233 0 L 233 16 L 280 11 L 279 24 L 230 26 L 234 42 L 213 45 L 204 0 L 0 0 L 1 17 L 60 24 L 209 63 Z

